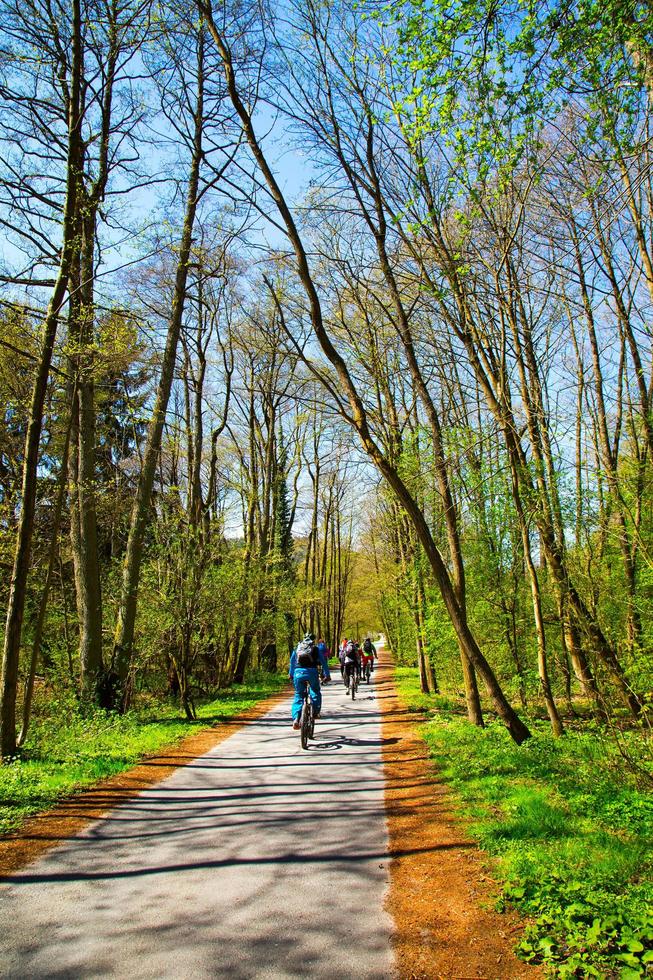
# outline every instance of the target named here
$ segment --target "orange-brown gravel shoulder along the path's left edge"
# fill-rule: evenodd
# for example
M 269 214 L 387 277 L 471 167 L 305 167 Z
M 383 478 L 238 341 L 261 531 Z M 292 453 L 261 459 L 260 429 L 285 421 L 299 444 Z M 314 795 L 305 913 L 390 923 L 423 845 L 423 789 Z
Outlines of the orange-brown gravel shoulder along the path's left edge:
M 179 766 L 186 766 L 209 752 L 238 728 L 260 718 L 286 697 L 287 691 L 279 691 L 228 721 L 189 735 L 170 748 L 146 757 L 133 769 L 109 776 L 95 786 L 62 800 L 50 810 L 28 817 L 18 830 L 0 837 L 0 879 L 79 834 L 94 820 L 148 786 L 161 782 Z

